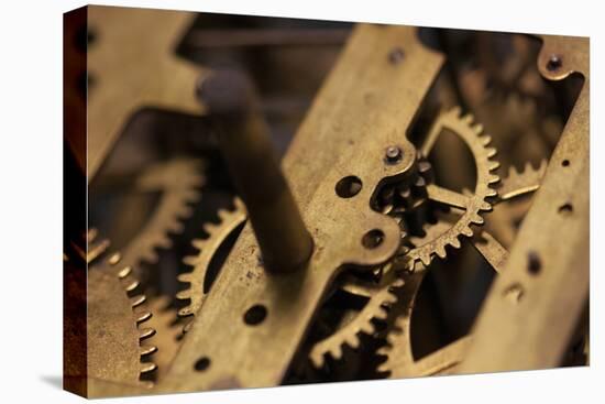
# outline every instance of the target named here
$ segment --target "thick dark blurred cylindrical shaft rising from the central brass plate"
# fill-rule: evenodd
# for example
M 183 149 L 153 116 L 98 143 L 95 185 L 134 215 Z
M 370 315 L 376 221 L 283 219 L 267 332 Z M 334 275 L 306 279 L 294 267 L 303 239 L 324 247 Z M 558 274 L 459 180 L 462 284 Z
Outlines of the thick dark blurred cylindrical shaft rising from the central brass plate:
M 251 81 L 243 73 L 217 72 L 202 83 L 200 98 L 246 206 L 264 266 L 270 272 L 302 267 L 312 239 L 279 168 Z

